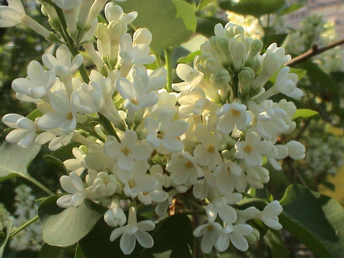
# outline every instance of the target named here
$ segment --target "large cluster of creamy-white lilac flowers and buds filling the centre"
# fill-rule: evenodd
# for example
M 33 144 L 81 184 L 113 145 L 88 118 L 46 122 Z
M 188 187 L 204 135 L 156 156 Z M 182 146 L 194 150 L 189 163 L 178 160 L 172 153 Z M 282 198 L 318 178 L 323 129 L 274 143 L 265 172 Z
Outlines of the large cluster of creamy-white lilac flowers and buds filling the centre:
M 55 9 L 41 2 L 43 13 L 58 27 Z M 83 57 L 63 42 L 56 56 L 43 55 L 47 70 L 32 61 L 28 77 L 12 84 L 17 98 L 36 103 L 42 115 L 34 121 L 18 114 L 2 118 L 14 129 L 6 141 L 23 148 L 49 143 L 50 150 L 56 150 L 71 141 L 81 144 L 73 149 L 75 158 L 64 161 L 69 175 L 61 176 L 60 184 L 67 194 L 57 205 L 78 207 L 88 199 L 108 207 L 104 220 L 115 228 L 110 240 L 120 237 L 124 254 L 134 250 L 136 240 L 144 248 L 153 246 L 146 231 L 155 224 L 137 222 L 138 203 L 155 205 L 155 213 L 163 216 L 172 200 L 188 191 L 204 201 L 207 223 L 194 231 L 202 236 L 204 253 L 213 247 L 223 252 L 230 242 L 246 251 L 248 243 L 259 239 L 258 230 L 247 223 L 251 219 L 281 229 L 278 201 L 263 210 L 240 210 L 234 204 L 248 188 L 263 188 L 269 181 L 263 157 L 281 170 L 279 160 L 305 156 L 301 143 L 278 143 L 281 134 L 295 129 L 295 105 L 268 99 L 279 93 L 302 96 L 295 86 L 297 75 L 282 67 L 290 59 L 285 50 L 273 43 L 260 55 L 260 40 L 245 36 L 241 26 L 218 24 L 193 67 L 178 64 L 182 82 L 172 84 L 175 91 L 169 92 L 164 88 L 166 69 L 144 66 L 156 58 L 150 54 L 150 31 L 127 33 L 138 13 L 124 13 L 106 0 L 90 2 L 55 0 L 66 18 L 67 38 L 84 47 L 97 69 L 83 81 L 73 77 L 82 70 Z M 15 14 L 23 13 L 19 0 L 9 3 L 0 7 L 1 19 L 8 21 L 1 25 L 23 23 L 5 15 L 8 8 L 14 12 L 20 7 Z M 107 22 L 98 23 L 104 5 Z M 273 86 L 265 88 L 275 74 Z

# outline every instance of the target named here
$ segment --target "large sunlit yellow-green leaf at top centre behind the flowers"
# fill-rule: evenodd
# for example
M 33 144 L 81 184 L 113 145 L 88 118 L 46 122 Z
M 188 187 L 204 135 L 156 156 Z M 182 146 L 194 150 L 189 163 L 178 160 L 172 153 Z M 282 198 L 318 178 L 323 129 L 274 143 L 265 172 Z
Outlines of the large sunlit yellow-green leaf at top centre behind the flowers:
M 136 28 L 148 28 L 152 32 L 150 47 L 157 56 L 163 49 L 178 47 L 196 30 L 194 10 L 184 1 L 127 0 L 117 3 L 127 13 L 133 10 L 139 13 L 133 25 Z

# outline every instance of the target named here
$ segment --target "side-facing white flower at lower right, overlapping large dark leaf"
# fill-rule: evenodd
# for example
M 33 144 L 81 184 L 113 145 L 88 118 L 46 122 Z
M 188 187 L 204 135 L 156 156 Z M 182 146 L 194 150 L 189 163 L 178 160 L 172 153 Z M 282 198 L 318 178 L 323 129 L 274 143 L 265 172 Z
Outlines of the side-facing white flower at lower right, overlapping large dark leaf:
M 278 215 L 283 211 L 283 207 L 279 201 L 272 201 L 267 204 L 263 211 L 260 211 L 256 216 L 261 220 L 267 227 L 280 230 L 282 225 L 279 223 Z

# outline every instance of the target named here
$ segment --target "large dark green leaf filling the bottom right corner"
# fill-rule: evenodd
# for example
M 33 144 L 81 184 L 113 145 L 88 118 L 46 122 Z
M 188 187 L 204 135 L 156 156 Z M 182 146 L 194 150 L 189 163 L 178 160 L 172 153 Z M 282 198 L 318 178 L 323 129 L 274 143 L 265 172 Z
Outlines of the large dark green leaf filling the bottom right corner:
M 283 228 L 319 258 L 342 258 L 344 254 L 344 209 L 335 200 L 291 185 L 280 201 Z

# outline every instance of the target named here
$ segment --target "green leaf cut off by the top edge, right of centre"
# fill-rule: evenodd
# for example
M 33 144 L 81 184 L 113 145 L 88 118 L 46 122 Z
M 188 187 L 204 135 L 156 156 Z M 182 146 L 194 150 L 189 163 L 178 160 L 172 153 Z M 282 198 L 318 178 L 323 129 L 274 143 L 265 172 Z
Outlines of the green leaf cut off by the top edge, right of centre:
M 274 13 L 286 4 L 285 0 L 240 0 L 233 3 L 231 0 L 222 0 L 220 8 L 242 15 L 260 17 L 263 14 Z

